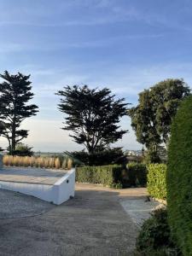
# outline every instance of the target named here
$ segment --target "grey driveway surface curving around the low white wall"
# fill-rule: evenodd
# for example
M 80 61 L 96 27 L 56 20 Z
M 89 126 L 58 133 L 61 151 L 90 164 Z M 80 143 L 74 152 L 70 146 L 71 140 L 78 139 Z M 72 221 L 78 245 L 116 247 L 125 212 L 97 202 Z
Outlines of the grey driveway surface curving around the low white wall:
M 4 214 L 4 219 L 0 219 L 3 256 L 132 255 L 138 228 L 119 202 L 145 200 L 147 195 L 146 189 L 77 184 L 73 200 L 53 206 L 30 196 L 2 191 L 0 201 L 8 192 L 15 205 L 23 201 L 20 212 L 27 210 L 22 218 L 18 207 L 13 207 L 12 215 Z M 3 202 L 0 205 L 2 208 Z

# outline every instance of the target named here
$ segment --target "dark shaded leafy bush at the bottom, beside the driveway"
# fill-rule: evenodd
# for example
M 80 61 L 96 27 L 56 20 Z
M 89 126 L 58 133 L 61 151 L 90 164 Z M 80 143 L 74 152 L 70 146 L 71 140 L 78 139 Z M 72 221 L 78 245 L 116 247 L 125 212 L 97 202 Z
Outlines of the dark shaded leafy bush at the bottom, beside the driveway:
M 142 225 L 137 237 L 136 255 L 178 256 L 181 255 L 171 237 L 166 209 L 154 211 Z

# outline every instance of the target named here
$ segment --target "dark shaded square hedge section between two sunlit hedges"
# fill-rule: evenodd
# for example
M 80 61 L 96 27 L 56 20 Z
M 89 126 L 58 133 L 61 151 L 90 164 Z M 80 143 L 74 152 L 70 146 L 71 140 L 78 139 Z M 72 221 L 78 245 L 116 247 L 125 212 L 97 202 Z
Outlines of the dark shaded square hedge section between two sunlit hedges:
M 129 186 L 145 187 L 147 184 L 147 168 L 143 164 L 130 163 L 127 165 Z

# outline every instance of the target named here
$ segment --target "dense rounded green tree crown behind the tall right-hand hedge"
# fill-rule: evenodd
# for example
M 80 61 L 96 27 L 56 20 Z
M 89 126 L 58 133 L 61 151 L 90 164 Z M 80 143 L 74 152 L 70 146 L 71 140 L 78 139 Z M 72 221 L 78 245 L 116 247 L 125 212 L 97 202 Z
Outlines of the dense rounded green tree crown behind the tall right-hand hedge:
M 179 102 L 188 95 L 189 86 L 183 79 L 166 79 L 143 90 L 137 107 L 128 111 L 137 141 L 147 148 L 167 143 Z

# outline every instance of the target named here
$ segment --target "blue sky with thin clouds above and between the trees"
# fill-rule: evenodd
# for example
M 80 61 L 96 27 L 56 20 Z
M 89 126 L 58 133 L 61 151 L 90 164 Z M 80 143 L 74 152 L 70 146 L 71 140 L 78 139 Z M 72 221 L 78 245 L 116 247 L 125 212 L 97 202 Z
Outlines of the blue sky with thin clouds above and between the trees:
M 23 127 L 35 150 L 81 148 L 60 129 L 54 93 L 67 84 L 107 86 L 135 105 L 162 79 L 192 82 L 189 0 L 0 0 L 0 9 L 0 72 L 32 75 L 40 111 Z M 121 125 L 130 132 L 117 145 L 141 149 L 130 119 Z

